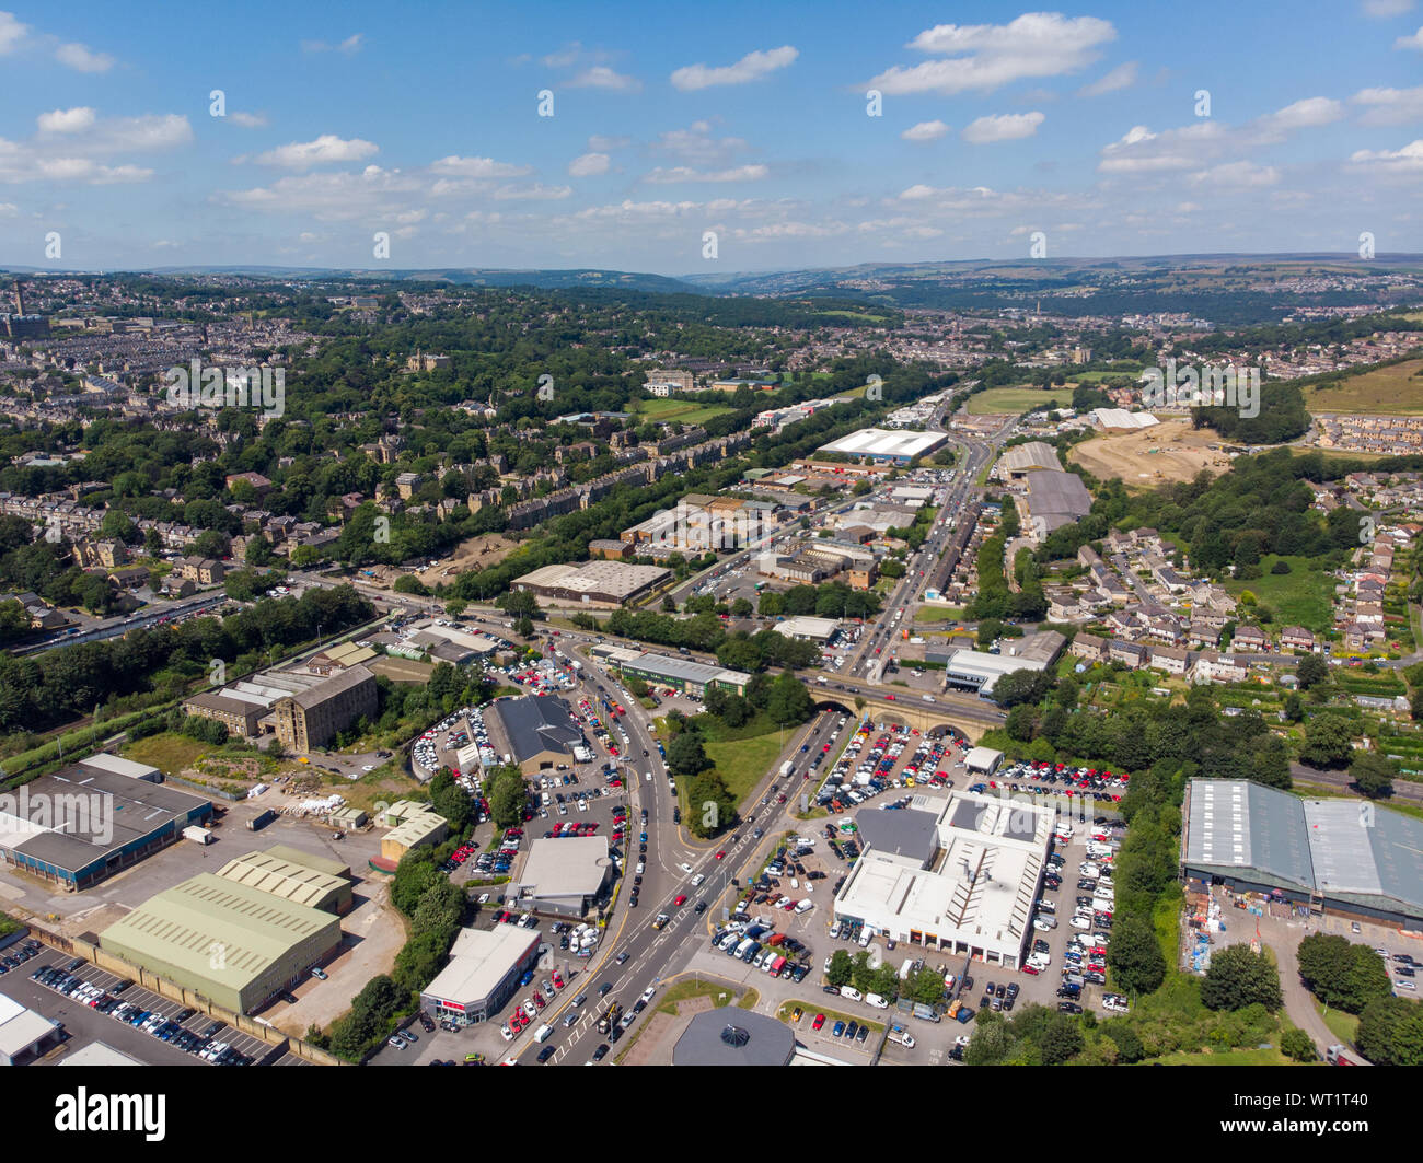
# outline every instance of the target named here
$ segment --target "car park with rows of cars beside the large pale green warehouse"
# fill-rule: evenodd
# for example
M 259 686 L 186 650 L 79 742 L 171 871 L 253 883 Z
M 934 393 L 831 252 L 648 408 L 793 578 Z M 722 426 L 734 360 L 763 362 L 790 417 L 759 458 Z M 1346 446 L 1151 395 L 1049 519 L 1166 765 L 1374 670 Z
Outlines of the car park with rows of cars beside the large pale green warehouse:
M 47 950 L 26 963 L 24 970 L 28 982 L 41 995 L 61 998 L 70 1009 L 83 1007 L 95 1017 L 107 1018 L 110 1031 L 127 1027 L 147 1035 L 147 1044 L 137 1052 L 144 1061 L 171 1062 L 172 1055 L 179 1055 L 178 1061 L 184 1065 L 248 1066 L 262 1062 L 273 1051 L 250 1034 L 240 1034 L 83 958 Z M 53 980 L 37 980 L 46 971 L 51 971 L 47 977 Z M 110 1041 L 104 1032 L 98 1038 Z

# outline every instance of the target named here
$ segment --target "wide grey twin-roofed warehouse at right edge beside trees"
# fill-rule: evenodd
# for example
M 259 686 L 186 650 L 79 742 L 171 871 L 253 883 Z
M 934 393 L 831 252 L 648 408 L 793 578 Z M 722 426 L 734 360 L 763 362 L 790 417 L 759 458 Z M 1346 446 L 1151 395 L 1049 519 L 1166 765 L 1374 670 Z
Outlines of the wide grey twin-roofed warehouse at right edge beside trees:
M 1315 914 L 1423 930 L 1423 823 L 1259 783 L 1194 779 L 1181 812 L 1181 874 Z

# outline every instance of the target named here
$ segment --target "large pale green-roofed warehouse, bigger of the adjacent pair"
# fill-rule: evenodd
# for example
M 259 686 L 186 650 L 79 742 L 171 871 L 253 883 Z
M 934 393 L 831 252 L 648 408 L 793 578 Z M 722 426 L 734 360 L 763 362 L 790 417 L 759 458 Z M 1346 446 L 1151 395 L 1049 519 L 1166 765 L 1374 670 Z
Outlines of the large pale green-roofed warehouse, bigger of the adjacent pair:
M 100 948 L 242 1014 L 292 987 L 342 941 L 334 913 L 292 897 L 309 887 L 287 876 L 276 891 L 229 874 L 201 873 L 158 893 L 100 934 Z M 320 870 L 316 870 L 320 872 Z

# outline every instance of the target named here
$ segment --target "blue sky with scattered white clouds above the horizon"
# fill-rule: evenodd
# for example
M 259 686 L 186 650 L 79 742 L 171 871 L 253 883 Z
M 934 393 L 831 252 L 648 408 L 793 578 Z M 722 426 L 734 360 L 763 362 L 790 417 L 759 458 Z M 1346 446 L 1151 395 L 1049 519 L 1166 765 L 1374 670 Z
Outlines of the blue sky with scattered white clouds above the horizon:
M 0 9 L 0 263 L 1423 252 L 1423 0 L 81 0 Z

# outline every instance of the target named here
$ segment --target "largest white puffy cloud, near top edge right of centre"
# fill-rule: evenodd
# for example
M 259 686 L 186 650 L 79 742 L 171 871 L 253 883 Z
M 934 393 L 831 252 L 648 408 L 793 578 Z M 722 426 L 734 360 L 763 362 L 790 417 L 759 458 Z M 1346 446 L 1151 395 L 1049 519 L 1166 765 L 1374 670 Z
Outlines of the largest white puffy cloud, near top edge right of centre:
M 939 24 L 908 47 L 945 60 L 894 65 L 868 87 L 889 94 L 989 92 L 1025 78 L 1079 73 L 1116 38 L 1109 20 L 1062 13 L 1025 13 L 1009 24 Z

